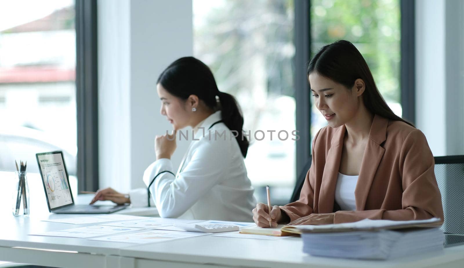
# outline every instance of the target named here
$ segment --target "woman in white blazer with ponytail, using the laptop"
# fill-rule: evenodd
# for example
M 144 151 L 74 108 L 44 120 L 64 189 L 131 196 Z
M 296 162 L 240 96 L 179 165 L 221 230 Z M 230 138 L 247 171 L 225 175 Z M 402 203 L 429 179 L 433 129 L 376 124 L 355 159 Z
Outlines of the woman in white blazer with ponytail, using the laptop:
M 200 60 L 182 57 L 157 81 L 161 115 L 173 125 L 170 135 L 156 136 L 156 161 L 145 170 L 148 188 L 129 195 L 99 190 L 90 204 L 111 200 L 134 206 L 156 205 L 161 217 L 252 221 L 256 205 L 244 158 L 249 142 L 235 98 L 220 92 L 213 73 Z M 174 174 L 170 160 L 176 131 L 190 126 L 194 137 Z

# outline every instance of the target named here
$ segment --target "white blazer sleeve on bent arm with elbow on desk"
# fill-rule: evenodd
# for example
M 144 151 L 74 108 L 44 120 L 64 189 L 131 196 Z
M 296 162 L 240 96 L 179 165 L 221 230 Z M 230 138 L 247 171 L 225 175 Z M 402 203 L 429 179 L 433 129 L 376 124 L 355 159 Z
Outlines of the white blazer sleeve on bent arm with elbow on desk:
M 166 174 L 150 187 L 161 217 L 175 218 L 185 213 L 214 185 L 224 178 L 229 164 L 227 141 L 199 141 L 192 158 L 176 177 Z M 205 208 L 207 209 L 207 208 Z

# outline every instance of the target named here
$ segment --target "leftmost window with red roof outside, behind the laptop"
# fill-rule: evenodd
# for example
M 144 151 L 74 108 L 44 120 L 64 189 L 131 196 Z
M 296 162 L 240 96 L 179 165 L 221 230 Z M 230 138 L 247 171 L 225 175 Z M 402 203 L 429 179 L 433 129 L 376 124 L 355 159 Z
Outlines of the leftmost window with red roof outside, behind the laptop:
M 75 77 L 74 1 L 2 1 L 0 172 L 15 159 L 38 172 L 35 153 L 59 149 L 76 174 Z

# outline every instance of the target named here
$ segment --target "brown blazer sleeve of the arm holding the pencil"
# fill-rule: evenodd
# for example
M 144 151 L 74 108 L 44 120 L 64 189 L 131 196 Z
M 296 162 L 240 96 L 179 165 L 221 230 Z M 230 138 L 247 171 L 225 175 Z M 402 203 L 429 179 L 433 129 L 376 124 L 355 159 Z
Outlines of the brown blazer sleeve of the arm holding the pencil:
M 319 132 L 316 133 L 313 139 L 313 157 L 311 160 L 311 167 L 309 168 L 308 173 L 306 173 L 306 178 L 304 179 L 303 187 L 301 188 L 300 198 L 293 203 L 287 204 L 285 206 L 280 206 L 280 209 L 290 217 L 290 222 L 301 217 L 307 216 L 313 213 L 314 211 L 314 208 L 312 206 L 314 204 L 314 182 L 316 169 L 316 165 L 314 164 L 314 156 L 316 155 L 314 153 L 314 148 L 316 146 L 316 140 L 319 136 Z

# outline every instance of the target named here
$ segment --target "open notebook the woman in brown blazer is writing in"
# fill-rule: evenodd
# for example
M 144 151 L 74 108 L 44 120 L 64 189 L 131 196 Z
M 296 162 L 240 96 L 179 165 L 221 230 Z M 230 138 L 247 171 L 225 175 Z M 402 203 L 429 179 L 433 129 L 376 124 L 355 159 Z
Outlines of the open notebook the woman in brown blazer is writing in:
M 393 230 L 404 228 L 433 227 L 440 223 L 440 219 L 431 218 L 427 220 L 413 221 L 390 221 L 364 219 L 354 223 L 337 223 L 326 225 L 285 225 L 279 224 L 276 228 L 261 228 L 258 226 L 240 228 L 240 233 L 266 235 L 266 236 L 291 236 L 302 233 L 327 233 L 327 232 L 350 232 L 350 231 L 374 231 Z

